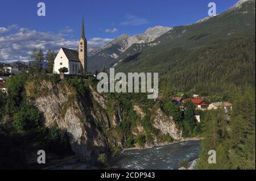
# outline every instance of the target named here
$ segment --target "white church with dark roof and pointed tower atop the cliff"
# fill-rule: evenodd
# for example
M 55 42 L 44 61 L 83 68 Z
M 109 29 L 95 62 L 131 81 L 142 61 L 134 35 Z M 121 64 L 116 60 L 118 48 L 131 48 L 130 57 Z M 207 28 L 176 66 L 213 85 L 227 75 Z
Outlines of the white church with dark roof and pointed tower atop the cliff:
M 53 73 L 59 74 L 60 68 L 68 68 L 65 74 L 80 75 L 87 71 L 87 41 L 84 33 L 84 18 L 82 19 L 82 33 L 77 50 L 60 48 L 54 64 Z

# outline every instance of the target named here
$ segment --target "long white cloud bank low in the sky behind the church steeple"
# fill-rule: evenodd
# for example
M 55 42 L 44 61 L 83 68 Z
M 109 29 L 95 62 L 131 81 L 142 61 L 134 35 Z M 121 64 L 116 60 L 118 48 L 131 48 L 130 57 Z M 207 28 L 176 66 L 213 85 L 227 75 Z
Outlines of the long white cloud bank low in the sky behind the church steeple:
M 28 28 L 10 26 L 0 29 L 0 61 L 28 61 L 34 48 L 59 51 L 61 47 L 77 49 L 78 39 L 65 33 L 38 32 Z M 13 31 L 10 31 L 13 30 Z M 102 47 L 112 39 L 93 38 L 88 47 Z

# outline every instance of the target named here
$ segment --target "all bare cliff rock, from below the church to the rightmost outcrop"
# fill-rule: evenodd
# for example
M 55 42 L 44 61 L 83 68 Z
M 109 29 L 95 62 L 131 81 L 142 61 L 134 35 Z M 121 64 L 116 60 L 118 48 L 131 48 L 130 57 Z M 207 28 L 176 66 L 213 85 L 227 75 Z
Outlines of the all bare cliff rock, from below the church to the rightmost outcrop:
M 89 161 L 97 158 L 100 153 L 110 153 L 113 146 L 124 147 L 125 137 L 105 134 L 106 130 L 117 127 L 122 121 L 123 110 L 118 100 L 113 105 L 113 112 L 108 113 L 108 100 L 91 86 L 82 96 L 67 83 L 53 85 L 42 81 L 40 85 L 35 85 L 35 82 L 30 82 L 26 86 L 26 92 L 42 112 L 46 127 L 52 127 L 56 123 L 68 133 L 72 150 L 77 155 L 83 155 Z M 134 109 L 138 116 L 144 117 L 145 113 L 139 106 Z M 162 111 L 156 111 L 153 125 L 162 134 L 169 133 L 175 140 L 181 140 L 181 133 L 174 121 L 171 117 L 164 116 Z M 144 132 L 141 124 L 138 124 L 138 128 L 139 134 Z

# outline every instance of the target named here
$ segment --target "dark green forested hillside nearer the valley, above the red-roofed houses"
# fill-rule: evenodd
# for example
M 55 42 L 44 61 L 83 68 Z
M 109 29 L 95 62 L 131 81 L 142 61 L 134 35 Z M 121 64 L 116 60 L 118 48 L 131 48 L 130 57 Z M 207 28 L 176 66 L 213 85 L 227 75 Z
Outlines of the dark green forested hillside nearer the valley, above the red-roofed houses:
M 174 91 L 209 93 L 221 93 L 230 86 L 243 89 L 255 86 L 255 36 L 230 37 L 203 48 L 175 48 L 122 62 L 118 71 L 159 72 L 163 90 L 166 86 Z

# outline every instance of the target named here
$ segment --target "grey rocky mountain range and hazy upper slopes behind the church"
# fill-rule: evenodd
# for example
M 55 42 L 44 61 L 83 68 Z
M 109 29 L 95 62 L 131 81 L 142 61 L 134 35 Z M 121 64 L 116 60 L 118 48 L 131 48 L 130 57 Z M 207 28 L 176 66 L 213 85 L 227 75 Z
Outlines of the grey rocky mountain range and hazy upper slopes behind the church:
M 90 54 L 88 68 L 92 72 L 102 66 L 118 68 L 126 59 L 140 60 L 167 49 L 195 48 L 248 34 L 255 34 L 255 0 L 241 0 L 224 13 L 194 24 L 173 28 L 157 26 L 148 28 L 142 35 L 121 35 Z

